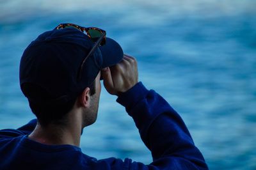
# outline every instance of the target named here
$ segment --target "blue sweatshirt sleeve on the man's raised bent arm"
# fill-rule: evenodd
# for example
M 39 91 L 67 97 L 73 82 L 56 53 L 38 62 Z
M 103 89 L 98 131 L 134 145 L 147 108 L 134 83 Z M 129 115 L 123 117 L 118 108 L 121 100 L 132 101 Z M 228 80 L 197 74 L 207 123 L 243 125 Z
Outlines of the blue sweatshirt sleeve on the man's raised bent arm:
M 131 162 L 131 169 L 208 169 L 184 121 L 156 91 L 139 82 L 116 101 L 124 105 L 152 153 L 151 164 Z

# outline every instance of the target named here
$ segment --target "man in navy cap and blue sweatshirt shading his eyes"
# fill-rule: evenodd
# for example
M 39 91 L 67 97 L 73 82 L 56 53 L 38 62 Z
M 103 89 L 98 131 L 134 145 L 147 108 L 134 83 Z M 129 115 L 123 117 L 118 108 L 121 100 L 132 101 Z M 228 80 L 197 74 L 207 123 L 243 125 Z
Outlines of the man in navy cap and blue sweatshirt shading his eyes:
M 132 116 L 151 164 L 81 152 L 83 128 L 97 119 L 100 79 Z M 102 29 L 60 24 L 38 36 L 22 55 L 20 88 L 37 119 L 0 130 L 0 169 L 207 169 L 179 114 L 138 82 L 136 59 Z

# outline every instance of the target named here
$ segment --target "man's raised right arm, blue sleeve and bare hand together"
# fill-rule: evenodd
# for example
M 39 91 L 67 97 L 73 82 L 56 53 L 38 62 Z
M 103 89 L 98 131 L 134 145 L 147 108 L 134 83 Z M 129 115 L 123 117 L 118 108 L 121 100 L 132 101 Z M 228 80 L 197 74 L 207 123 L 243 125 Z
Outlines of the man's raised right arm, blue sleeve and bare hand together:
M 117 102 L 125 106 L 152 152 L 150 165 L 130 162 L 132 169 L 207 169 L 179 114 L 155 91 L 138 83 L 137 70 L 136 59 L 127 55 L 111 69 L 102 70 L 105 88 L 118 96 Z

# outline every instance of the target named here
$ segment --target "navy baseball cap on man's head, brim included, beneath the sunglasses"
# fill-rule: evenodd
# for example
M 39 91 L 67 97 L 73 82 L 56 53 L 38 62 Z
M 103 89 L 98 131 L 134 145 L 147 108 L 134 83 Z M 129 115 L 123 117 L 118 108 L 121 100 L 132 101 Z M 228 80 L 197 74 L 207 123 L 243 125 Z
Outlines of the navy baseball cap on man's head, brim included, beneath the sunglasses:
M 100 70 L 116 65 L 124 56 L 120 45 L 111 38 L 86 59 L 81 79 L 79 67 L 94 43 L 72 27 L 54 29 L 39 35 L 24 50 L 20 60 L 20 88 L 29 102 L 65 104 L 90 86 Z M 29 86 L 28 86 L 29 85 Z

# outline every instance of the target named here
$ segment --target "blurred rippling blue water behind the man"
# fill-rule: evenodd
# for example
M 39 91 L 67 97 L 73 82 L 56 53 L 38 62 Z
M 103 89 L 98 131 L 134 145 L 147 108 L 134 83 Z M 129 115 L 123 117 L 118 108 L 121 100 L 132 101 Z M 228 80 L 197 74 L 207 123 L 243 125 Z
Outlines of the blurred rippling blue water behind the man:
M 256 169 L 256 1 L 0 0 L 0 129 L 35 118 L 19 87 L 20 57 L 61 22 L 100 27 L 136 57 L 140 81 L 180 113 L 210 169 Z M 102 89 L 83 152 L 149 164 L 115 100 Z

